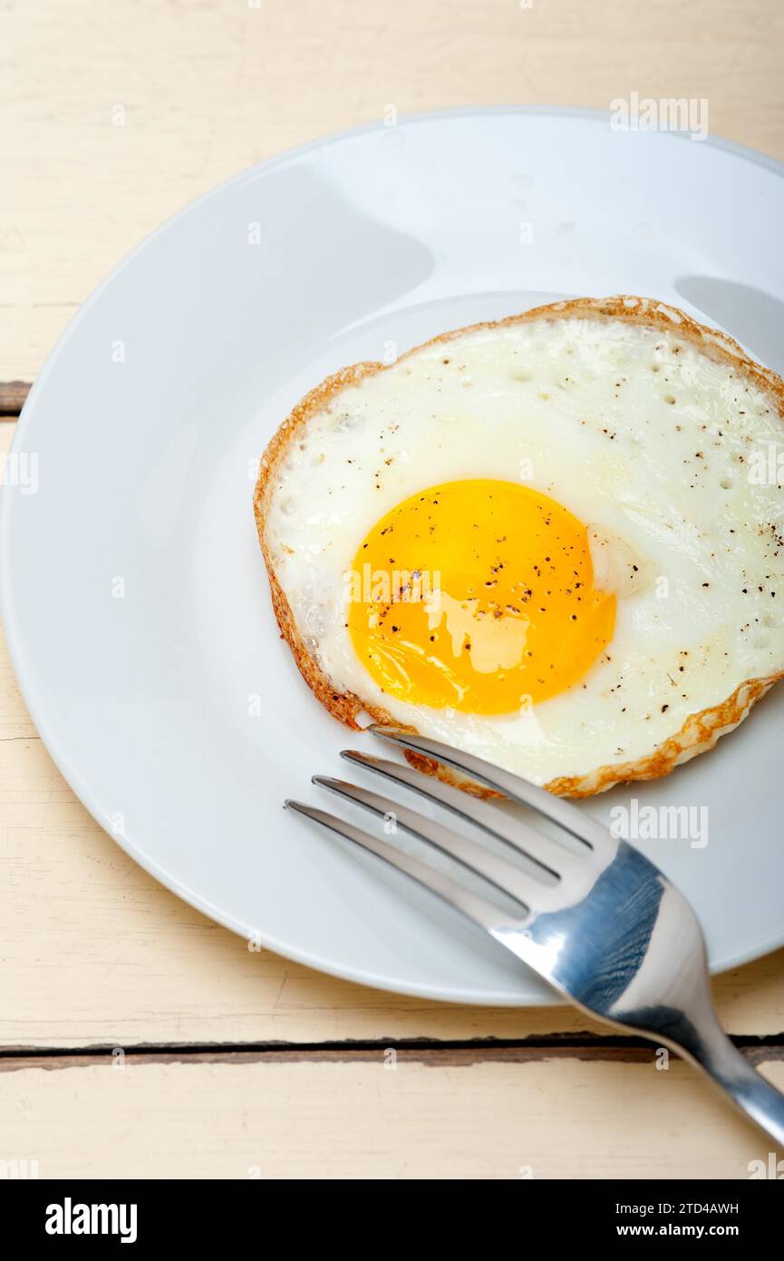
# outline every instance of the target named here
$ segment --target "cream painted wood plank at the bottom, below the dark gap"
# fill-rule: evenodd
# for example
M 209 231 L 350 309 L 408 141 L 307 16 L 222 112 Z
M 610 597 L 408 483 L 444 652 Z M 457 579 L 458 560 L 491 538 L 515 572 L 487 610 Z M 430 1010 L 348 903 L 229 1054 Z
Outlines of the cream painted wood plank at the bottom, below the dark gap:
M 0 1115 L 40 1178 L 742 1179 L 773 1146 L 674 1062 L 106 1062 L 1 1072 Z

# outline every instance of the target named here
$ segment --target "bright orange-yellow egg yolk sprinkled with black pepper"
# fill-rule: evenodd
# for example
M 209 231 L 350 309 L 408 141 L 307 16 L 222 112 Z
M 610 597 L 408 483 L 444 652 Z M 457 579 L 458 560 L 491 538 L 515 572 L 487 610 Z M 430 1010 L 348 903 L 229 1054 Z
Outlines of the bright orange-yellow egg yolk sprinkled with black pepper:
M 378 521 L 348 579 L 348 628 L 382 691 L 512 714 L 604 652 L 615 595 L 594 588 L 586 527 L 514 482 L 447 482 Z

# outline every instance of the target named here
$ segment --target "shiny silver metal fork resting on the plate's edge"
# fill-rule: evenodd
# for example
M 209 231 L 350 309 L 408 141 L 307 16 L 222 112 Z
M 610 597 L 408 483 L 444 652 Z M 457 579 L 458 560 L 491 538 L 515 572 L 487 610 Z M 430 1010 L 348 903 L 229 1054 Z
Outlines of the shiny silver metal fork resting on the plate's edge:
M 306 815 L 431 889 L 577 1008 L 691 1059 L 784 1145 L 784 1095 L 751 1068 L 721 1029 L 711 1000 L 700 923 L 667 876 L 572 802 L 437 740 L 389 726 L 371 730 L 533 808 L 557 826 L 557 835 L 562 831 L 572 837 L 571 844 L 560 844 L 408 763 L 343 752 L 342 757 L 354 765 L 437 802 L 526 855 L 528 870 L 522 870 L 518 863 L 387 797 L 343 779 L 314 776 L 315 784 L 379 817 L 392 817 L 405 831 L 450 855 L 513 898 L 519 914 L 504 913 L 492 898 L 465 888 L 386 837 L 377 839 L 299 801 L 287 801 L 289 810 Z

